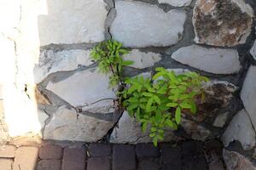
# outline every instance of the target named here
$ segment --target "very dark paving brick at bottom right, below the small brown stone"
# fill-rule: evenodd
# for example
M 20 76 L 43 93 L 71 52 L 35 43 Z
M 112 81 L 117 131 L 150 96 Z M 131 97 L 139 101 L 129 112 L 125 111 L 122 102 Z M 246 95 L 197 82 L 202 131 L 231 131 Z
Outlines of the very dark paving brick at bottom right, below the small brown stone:
M 207 170 L 203 146 L 199 142 L 186 141 L 182 144 L 183 170 Z

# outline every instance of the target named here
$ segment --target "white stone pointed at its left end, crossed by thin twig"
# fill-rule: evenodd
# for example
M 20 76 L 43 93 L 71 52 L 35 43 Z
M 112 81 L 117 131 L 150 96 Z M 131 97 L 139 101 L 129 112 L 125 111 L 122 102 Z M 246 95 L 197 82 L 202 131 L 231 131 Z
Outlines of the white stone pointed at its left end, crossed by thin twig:
M 108 113 L 113 111 L 115 94 L 108 88 L 108 76 L 96 69 L 79 71 L 61 82 L 49 82 L 47 89 L 83 111 Z

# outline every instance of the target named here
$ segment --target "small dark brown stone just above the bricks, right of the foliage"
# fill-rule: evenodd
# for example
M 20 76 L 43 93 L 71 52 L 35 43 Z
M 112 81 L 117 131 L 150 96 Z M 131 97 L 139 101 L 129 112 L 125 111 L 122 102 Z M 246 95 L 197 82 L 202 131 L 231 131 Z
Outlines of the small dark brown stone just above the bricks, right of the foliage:
M 202 127 L 195 122 L 186 120 L 184 118 L 181 122 L 181 126 L 184 128 L 185 132 L 195 140 L 205 141 L 211 133 L 211 131 L 209 131 L 206 127 Z

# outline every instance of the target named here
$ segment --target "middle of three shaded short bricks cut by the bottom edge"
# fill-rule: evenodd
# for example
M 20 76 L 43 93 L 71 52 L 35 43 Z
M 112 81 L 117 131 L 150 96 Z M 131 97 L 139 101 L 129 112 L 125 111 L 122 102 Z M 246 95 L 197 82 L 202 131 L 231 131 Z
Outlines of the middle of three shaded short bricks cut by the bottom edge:
M 90 157 L 87 170 L 111 170 L 111 160 L 109 157 Z

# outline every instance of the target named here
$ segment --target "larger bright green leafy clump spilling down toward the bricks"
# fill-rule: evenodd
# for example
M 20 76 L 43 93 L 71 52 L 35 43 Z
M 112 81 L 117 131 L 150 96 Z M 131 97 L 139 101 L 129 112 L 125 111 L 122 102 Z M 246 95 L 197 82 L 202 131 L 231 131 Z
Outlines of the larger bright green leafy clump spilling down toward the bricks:
M 156 68 L 152 80 L 142 76 L 125 80 L 123 105 L 130 116 L 142 123 L 143 132 L 150 127 L 149 136 L 156 145 L 164 139 L 166 128 L 177 129 L 183 110 L 195 114 L 195 97 L 204 95 L 201 83 L 207 81 L 207 77 L 195 72 L 177 75 L 174 71 Z

